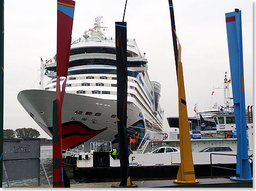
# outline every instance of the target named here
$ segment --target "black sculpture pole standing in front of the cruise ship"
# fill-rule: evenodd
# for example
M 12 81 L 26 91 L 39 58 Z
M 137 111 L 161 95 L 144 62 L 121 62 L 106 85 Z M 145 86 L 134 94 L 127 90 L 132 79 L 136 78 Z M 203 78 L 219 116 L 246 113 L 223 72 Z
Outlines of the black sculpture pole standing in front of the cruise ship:
M 115 22 L 115 50 L 117 60 L 117 125 L 121 182 L 112 187 L 135 187 L 130 178 L 127 144 L 127 36 L 126 22 Z

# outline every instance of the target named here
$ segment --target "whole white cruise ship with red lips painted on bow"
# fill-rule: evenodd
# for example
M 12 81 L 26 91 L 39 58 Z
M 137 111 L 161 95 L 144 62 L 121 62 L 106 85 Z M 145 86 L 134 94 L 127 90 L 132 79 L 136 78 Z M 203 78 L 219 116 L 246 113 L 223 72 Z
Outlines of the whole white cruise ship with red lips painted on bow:
M 115 39 L 107 38 L 95 19 L 93 29 L 71 44 L 68 78 L 62 107 L 63 149 L 109 140 L 118 143 L 117 69 Z M 42 90 L 23 90 L 17 99 L 35 122 L 52 137 L 52 104 L 56 98 L 56 57 L 41 61 L 52 79 Z M 148 60 L 135 39 L 127 39 L 127 133 L 137 145 L 149 131 L 162 131 L 161 85 L 150 81 Z M 42 82 L 43 80 L 41 80 Z M 60 88 L 64 79 L 61 78 Z M 42 84 L 41 84 L 42 85 Z

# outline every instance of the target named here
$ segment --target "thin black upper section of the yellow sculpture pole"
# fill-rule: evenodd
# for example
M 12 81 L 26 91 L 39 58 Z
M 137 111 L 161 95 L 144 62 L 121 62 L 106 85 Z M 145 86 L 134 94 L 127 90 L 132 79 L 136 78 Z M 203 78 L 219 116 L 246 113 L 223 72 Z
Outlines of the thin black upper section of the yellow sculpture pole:
M 178 82 L 178 45 L 177 45 L 177 38 L 175 35 L 175 20 L 174 20 L 174 11 L 173 11 L 173 1 L 169 1 L 169 9 L 170 9 L 170 23 L 172 24 L 172 35 L 173 35 L 173 50 L 174 50 L 174 57 L 175 57 L 175 65 L 176 65 L 176 75 L 177 75 L 177 82 Z

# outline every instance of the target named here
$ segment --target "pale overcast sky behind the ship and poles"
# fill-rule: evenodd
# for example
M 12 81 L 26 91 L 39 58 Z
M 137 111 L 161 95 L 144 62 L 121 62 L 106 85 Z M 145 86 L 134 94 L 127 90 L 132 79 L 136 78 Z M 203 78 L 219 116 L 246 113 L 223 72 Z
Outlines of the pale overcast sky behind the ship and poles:
M 107 36 L 115 36 L 114 22 L 122 21 L 125 0 L 76 0 L 72 38 L 94 27 L 102 16 Z M 9 0 L 4 2 L 4 129 L 31 127 L 40 137 L 50 138 L 17 101 L 25 89 L 39 88 L 40 57 L 56 54 L 57 1 Z M 242 11 L 243 69 L 246 107 L 253 105 L 253 1 L 173 0 L 176 33 L 181 43 L 181 61 L 188 116 L 223 104 L 219 87 L 225 72 L 230 77 L 225 13 Z M 146 53 L 151 81 L 161 83 L 160 105 L 167 117 L 178 116 L 178 85 L 170 25 L 168 0 L 128 0 L 125 12 L 127 37 L 135 38 Z M 46 81 L 46 79 L 45 79 Z

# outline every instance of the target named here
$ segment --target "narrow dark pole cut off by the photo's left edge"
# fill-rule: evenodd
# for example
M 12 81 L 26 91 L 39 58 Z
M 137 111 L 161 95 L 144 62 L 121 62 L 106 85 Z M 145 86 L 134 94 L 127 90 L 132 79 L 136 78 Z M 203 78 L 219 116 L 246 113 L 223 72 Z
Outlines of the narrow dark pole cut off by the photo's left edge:
M 3 187 L 3 115 L 4 115 L 4 1 L 0 0 L 0 32 L 1 44 L 0 44 L 0 65 L 1 65 L 1 82 L 0 82 L 0 187 Z

